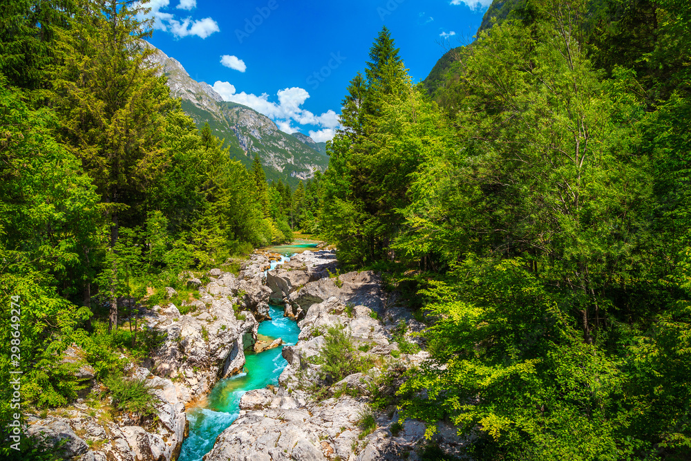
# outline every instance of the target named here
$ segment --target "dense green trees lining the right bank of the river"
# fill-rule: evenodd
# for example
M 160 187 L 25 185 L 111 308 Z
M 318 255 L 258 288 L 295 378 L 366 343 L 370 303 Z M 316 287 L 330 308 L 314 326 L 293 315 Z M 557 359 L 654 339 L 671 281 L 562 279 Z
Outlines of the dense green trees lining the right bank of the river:
M 523 0 L 433 95 L 384 28 L 320 232 L 424 314 L 407 417 L 477 460 L 691 455 L 691 4 Z

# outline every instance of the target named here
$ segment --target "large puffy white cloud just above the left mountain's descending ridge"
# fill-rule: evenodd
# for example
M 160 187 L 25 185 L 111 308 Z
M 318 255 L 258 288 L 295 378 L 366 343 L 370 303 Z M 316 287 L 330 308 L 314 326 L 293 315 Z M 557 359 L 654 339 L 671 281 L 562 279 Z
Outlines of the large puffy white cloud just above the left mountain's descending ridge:
M 274 120 L 278 129 L 285 133 L 298 131 L 297 128 L 294 128 L 293 123 L 313 125 L 321 129 L 314 131 L 320 140 L 330 140 L 340 126 L 339 115 L 332 110 L 321 115 L 314 115 L 314 113 L 301 107 L 310 97 L 310 93 L 307 93 L 304 88 L 293 87 L 278 91 L 276 93 L 278 103 L 269 101 L 267 93 L 261 95 L 248 94 L 245 91 L 236 93 L 235 86 L 229 82 L 218 81 L 214 83 L 214 91 L 221 95 L 224 101 L 237 102 L 263 113 Z M 310 131 L 310 135 L 311 133 L 312 131 Z

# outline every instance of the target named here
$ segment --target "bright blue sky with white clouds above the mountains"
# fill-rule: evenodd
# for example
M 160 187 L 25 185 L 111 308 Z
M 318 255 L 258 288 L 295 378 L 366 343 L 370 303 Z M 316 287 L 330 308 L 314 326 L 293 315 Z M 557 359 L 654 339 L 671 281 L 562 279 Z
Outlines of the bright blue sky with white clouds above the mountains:
M 151 0 L 151 43 L 189 75 L 317 141 L 387 26 L 413 82 L 471 41 L 491 0 Z

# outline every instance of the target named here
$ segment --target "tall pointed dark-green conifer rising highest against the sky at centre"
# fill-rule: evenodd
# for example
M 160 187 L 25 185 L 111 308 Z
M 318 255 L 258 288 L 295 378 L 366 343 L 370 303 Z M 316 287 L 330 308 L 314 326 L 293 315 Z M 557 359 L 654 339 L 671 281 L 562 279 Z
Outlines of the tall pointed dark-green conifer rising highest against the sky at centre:
M 408 204 L 407 174 L 419 156 L 408 149 L 401 156 L 392 147 L 397 123 L 407 118 L 402 115 L 410 113 L 415 122 L 419 98 L 412 93 L 399 50 L 385 27 L 370 49 L 366 79 L 358 74 L 348 87 L 344 129 L 332 141 L 323 185 L 323 229 L 339 242 L 345 263 L 362 265 L 381 258 L 398 232 L 392 216 Z

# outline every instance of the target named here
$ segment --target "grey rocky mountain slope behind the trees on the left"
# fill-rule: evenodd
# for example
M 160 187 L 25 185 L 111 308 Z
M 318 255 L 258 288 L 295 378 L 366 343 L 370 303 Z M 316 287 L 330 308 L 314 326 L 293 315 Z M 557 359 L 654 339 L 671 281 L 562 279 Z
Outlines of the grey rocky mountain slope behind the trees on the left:
M 153 62 L 168 77 L 173 97 L 182 98 L 182 110 L 197 126 L 209 123 L 211 132 L 225 140 L 230 155 L 245 166 L 259 156 L 268 180 L 282 180 L 293 187 L 325 171 L 329 160 L 325 144 L 297 133 L 283 133 L 269 117 L 223 98 L 205 82 L 196 82 L 176 59 L 157 50 Z M 321 145 L 323 144 L 323 145 Z

